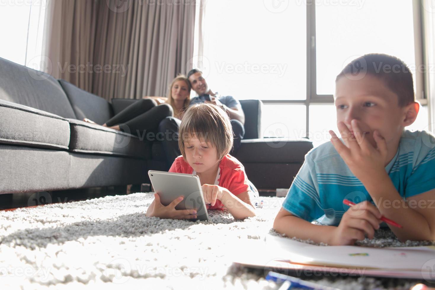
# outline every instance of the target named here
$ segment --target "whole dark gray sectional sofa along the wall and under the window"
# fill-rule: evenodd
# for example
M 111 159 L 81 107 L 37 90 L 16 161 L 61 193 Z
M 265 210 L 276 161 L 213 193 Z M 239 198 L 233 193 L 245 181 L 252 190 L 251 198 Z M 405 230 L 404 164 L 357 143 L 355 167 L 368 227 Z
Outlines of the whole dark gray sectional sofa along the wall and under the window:
M 148 170 L 166 167 L 159 142 L 81 121 L 103 124 L 134 101 L 109 103 L 0 58 L 0 194 L 147 183 Z M 261 138 L 261 102 L 241 103 L 246 135 L 236 157 L 248 178 L 258 188 L 290 186 L 312 143 L 276 148 Z

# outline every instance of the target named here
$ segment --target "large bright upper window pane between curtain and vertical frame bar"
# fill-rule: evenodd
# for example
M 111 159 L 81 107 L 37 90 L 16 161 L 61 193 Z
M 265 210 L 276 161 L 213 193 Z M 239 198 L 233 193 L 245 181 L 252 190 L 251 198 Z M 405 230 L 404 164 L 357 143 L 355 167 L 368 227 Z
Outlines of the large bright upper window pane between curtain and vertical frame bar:
M 305 99 L 306 8 L 266 2 L 206 2 L 201 69 L 211 89 L 238 99 Z

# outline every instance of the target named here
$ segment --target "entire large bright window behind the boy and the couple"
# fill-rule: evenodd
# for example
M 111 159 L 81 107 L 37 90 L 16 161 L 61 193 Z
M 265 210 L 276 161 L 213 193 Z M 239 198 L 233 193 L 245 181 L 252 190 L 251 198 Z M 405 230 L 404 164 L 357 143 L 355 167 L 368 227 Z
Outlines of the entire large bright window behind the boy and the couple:
M 335 76 L 358 56 L 395 55 L 412 72 L 421 65 L 421 43 L 414 37 L 420 8 L 413 1 L 205 3 L 204 55 L 197 68 L 214 91 L 262 100 L 266 137 L 327 142 L 328 130 L 337 131 Z M 414 80 L 418 84 L 422 76 L 414 73 Z M 421 89 L 416 86 L 418 99 Z M 428 129 L 427 114 L 422 107 L 408 129 Z

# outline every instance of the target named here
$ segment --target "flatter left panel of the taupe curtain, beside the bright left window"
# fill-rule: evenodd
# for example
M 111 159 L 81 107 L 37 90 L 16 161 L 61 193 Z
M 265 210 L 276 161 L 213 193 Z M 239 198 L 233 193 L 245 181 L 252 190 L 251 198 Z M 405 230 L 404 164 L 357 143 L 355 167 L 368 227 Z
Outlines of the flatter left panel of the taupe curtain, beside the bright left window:
M 94 39 L 98 1 L 47 1 L 43 56 L 47 71 L 81 89 L 92 91 Z

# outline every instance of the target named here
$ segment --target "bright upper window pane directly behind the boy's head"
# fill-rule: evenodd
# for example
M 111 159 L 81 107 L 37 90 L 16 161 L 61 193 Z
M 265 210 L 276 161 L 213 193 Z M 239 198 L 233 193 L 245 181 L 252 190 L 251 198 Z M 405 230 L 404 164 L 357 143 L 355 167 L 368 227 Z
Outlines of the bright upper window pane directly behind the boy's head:
M 319 4 L 315 13 L 318 95 L 332 95 L 335 76 L 352 59 L 366 53 L 391 54 L 415 68 L 412 1 Z

